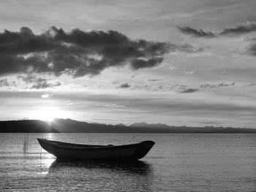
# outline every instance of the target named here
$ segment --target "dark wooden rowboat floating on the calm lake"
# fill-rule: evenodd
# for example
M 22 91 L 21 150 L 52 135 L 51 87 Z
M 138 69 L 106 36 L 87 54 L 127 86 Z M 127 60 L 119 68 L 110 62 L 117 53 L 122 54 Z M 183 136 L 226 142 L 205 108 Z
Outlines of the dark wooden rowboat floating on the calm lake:
M 43 149 L 59 160 L 70 161 L 134 161 L 143 158 L 153 141 L 143 141 L 130 145 L 81 145 L 37 139 Z

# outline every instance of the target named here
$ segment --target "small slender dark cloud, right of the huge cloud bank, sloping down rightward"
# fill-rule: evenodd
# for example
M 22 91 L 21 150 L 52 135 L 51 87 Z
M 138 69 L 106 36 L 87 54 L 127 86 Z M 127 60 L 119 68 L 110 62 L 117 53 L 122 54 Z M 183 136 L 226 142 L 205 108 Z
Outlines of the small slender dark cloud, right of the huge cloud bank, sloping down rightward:
M 197 30 L 195 28 L 190 28 L 187 26 L 184 26 L 184 27 L 177 26 L 177 27 L 178 27 L 178 30 L 181 31 L 181 33 L 189 34 L 192 37 L 205 37 L 205 38 L 216 37 L 216 34 L 214 34 L 211 31 L 203 31 L 202 29 Z

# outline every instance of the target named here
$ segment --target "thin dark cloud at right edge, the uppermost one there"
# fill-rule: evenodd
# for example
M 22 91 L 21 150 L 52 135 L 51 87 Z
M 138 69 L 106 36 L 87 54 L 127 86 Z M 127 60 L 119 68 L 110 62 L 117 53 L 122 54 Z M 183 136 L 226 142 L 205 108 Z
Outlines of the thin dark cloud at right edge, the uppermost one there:
M 247 21 L 246 23 L 239 23 L 235 27 L 224 28 L 220 35 L 246 34 L 252 31 L 256 31 L 256 22 Z

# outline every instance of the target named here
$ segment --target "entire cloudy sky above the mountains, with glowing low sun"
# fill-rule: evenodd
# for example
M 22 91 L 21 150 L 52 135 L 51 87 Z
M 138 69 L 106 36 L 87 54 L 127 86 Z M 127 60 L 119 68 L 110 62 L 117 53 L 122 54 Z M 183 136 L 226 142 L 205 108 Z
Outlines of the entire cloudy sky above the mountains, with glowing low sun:
M 0 120 L 256 128 L 256 1 L 0 1 Z

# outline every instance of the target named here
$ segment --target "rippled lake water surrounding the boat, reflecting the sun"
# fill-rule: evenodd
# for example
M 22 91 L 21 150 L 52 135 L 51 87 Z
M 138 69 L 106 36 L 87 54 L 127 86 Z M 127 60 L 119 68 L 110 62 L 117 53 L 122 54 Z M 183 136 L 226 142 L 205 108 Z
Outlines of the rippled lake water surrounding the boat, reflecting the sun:
M 59 163 L 37 137 L 156 145 L 138 163 Z M 256 191 L 256 134 L 0 134 L 0 141 L 0 191 Z

